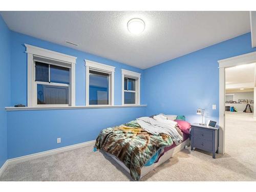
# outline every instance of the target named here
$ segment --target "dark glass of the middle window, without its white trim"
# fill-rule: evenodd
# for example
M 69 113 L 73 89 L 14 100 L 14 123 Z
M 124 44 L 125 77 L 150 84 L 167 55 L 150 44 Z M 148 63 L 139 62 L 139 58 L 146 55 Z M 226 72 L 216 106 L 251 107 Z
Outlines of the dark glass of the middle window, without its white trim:
M 89 104 L 109 104 L 109 74 L 90 71 Z

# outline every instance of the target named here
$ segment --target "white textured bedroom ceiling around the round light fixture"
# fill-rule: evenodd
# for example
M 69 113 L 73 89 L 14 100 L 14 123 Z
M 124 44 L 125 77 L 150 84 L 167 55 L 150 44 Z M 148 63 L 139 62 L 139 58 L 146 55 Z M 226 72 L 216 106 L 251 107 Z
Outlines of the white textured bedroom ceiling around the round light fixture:
M 8 27 L 145 69 L 250 32 L 249 12 L 1 12 Z M 133 35 L 127 22 L 139 17 L 145 30 Z M 65 41 L 72 41 L 78 47 Z

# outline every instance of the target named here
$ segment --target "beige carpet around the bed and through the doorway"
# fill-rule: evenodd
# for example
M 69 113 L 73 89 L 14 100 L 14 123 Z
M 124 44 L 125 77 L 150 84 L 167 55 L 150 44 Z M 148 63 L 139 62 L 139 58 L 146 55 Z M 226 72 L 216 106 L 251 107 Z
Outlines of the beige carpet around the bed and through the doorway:
M 2 181 L 130 181 L 130 176 L 93 146 L 9 165 Z M 226 154 L 183 150 L 142 181 L 256 181 L 256 121 L 226 115 Z

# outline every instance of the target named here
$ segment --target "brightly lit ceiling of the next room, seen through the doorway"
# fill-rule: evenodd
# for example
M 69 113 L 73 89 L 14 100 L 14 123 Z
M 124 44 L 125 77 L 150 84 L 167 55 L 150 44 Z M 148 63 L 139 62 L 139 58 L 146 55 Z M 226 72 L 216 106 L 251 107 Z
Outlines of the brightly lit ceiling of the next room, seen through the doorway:
M 226 84 L 254 82 L 255 63 L 226 69 Z

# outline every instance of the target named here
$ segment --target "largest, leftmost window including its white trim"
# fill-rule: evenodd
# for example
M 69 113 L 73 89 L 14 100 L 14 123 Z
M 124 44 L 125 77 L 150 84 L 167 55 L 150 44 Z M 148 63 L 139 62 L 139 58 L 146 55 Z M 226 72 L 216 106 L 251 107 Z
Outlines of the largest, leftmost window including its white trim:
M 25 45 L 28 106 L 75 106 L 76 57 Z

